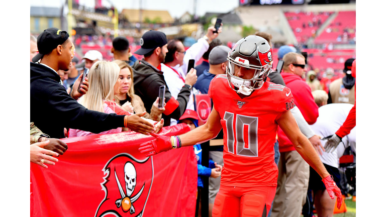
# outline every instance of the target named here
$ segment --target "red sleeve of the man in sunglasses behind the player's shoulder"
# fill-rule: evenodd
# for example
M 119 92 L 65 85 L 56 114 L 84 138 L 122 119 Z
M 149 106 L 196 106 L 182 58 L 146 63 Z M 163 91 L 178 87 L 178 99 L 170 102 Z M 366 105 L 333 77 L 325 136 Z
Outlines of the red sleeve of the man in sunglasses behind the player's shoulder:
M 303 83 L 299 82 L 300 88 L 296 92 L 293 92 L 295 104 L 299 107 L 299 110 L 306 122 L 309 125 L 312 125 L 315 124 L 319 117 L 319 107 L 315 103 L 310 86 L 308 86 L 306 83 L 303 85 Z

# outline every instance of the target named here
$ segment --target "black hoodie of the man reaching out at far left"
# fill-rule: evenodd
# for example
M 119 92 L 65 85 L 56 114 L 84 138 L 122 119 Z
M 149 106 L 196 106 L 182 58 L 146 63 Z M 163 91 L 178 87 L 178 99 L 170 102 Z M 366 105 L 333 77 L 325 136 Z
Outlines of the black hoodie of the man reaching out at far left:
M 95 112 L 79 104 L 52 69 L 32 62 L 30 69 L 30 122 L 51 138 L 64 138 L 65 127 L 92 133 L 124 127 L 125 116 Z

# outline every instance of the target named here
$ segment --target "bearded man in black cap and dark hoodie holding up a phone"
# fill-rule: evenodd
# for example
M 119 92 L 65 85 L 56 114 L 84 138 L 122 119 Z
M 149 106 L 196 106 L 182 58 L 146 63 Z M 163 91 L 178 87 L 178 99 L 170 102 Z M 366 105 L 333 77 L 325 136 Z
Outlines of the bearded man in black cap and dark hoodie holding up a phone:
M 141 48 L 134 52 L 143 55 L 142 60 L 137 60 L 134 65 L 134 91 L 141 97 L 146 111 L 151 112 L 151 106 L 156 100 L 159 87 L 165 85 L 165 111 L 162 118 L 164 126 L 170 126 L 170 119 L 178 120 L 186 110 L 189 100 L 191 85 L 187 83 L 191 79 L 185 79 L 185 85 L 174 98 L 166 85 L 160 64 L 165 61 L 167 50 L 166 35 L 159 31 L 148 31 L 140 39 Z M 187 76 L 192 76 L 194 82 L 197 80 L 196 70 L 191 69 Z M 162 100 L 162 99 L 160 99 Z

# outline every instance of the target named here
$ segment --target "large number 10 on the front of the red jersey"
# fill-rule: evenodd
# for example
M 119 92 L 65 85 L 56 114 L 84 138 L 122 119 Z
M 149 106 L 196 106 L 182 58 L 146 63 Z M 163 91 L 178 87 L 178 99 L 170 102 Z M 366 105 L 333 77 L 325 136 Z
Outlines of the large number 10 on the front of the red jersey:
M 243 116 L 236 114 L 236 125 L 233 127 L 234 114 L 225 112 L 224 120 L 227 127 L 227 146 L 230 153 L 246 156 L 246 157 L 258 157 L 257 146 L 257 117 Z M 248 148 L 245 147 L 244 131 L 248 129 Z M 234 151 L 234 143 L 236 138 L 236 153 Z

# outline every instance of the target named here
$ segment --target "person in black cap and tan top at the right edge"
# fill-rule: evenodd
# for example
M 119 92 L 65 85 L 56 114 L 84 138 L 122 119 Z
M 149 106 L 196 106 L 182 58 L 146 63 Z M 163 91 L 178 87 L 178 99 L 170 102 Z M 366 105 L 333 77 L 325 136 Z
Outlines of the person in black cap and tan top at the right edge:
M 352 62 L 355 59 L 347 59 L 343 72 L 346 74 L 331 82 L 328 91 L 327 103 L 355 103 L 355 78 L 351 75 Z

